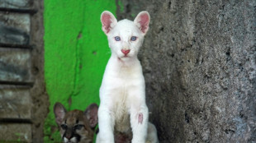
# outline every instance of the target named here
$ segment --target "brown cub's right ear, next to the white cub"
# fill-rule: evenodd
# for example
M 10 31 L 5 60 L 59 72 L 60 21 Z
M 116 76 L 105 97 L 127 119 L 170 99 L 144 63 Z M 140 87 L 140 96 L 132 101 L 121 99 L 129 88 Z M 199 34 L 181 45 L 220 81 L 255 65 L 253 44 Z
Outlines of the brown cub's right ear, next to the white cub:
M 97 109 L 97 104 L 90 104 L 84 111 L 84 115 L 88 118 L 91 128 L 96 127 L 97 125 Z

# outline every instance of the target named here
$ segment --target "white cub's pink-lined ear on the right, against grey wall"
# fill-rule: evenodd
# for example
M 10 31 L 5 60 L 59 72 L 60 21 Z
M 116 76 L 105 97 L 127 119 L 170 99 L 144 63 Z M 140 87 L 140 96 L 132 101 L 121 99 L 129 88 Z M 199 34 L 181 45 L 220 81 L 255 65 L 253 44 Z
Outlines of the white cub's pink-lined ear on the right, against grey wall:
M 145 35 L 149 30 L 150 16 L 149 12 L 143 11 L 138 14 L 135 18 L 135 25 L 137 25 L 140 31 Z

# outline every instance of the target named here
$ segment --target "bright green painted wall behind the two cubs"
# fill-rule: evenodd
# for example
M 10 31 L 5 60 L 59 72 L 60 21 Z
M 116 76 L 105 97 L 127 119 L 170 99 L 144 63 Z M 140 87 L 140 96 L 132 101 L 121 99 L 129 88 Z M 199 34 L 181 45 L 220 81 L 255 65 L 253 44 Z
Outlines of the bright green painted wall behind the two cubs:
M 116 13 L 115 0 L 45 0 L 45 82 L 50 113 L 45 119 L 45 142 L 60 140 L 53 106 L 84 110 L 99 104 L 98 90 L 110 57 L 100 15 Z

